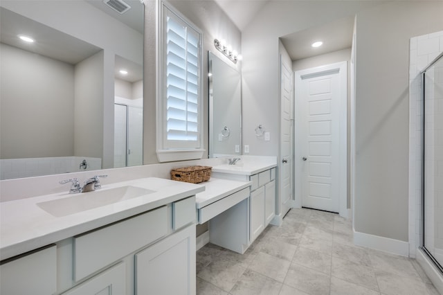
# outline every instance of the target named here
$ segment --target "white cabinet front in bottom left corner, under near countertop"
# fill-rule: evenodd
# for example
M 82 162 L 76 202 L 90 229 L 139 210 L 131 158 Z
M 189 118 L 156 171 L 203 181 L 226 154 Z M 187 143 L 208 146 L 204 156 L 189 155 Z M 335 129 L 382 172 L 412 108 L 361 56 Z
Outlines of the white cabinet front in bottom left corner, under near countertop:
M 48 295 L 57 290 L 57 247 L 54 245 L 2 262 L 0 294 Z

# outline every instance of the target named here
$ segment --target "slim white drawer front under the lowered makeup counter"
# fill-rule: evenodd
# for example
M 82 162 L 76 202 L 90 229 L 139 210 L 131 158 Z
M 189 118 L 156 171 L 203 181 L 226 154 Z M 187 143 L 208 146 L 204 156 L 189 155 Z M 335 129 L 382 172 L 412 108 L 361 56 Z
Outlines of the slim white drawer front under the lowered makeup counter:
M 238 204 L 239 202 L 242 202 L 244 199 L 249 197 L 249 193 L 250 193 L 249 188 L 244 188 L 236 193 L 233 193 L 232 195 L 228 195 L 228 197 L 219 199 L 217 202 L 214 202 L 213 204 L 200 208 L 199 224 L 204 224 L 211 218 L 228 210 L 230 207 Z

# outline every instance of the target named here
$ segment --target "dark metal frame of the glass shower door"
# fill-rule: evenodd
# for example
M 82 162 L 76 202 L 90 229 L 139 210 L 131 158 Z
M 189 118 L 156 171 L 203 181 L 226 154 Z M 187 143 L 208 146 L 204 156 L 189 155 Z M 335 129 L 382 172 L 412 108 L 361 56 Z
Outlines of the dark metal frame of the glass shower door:
M 430 64 L 428 64 L 428 66 L 426 66 L 426 68 L 424 68 L 422 71 L 421 71 L 421 73 L 420 73 L 420 76 L 421 76 L 421 79 L 422 79 L 422 218 L 421 218 L 421 223 L 422 224 L 420 224 L 420 229 L 421 229 L 421 233 L 420 233 L 420 249 L 422 249 L 422 251 L 424 252 L 424 253 L 426 253 L 426 256 L 428 256 L 428 258 L 433 262 L 433 264 L 435 265 L 435 267 L 437 267 L 441 272 L 442 272 L 442 274 L 443 274 L 443 266 L 440 264 L 440 262 L 438 262 L 435 258 L 434 258 L 434 256 L 433 256 L 433 254 L 430 252 L 430 251 L 428 251 L 428 249 L 426 249 L 426 245 L 425 245 L 425 226 L 426 226 L 426 224 L 425 224 L 425 218 L 424 218 L 424 215 L 425 215 L 425 199 L 424 199 L 424 197 L 425 197 L 425 124 L 426 124 L 426 108 L 425 108 L 425 106 L 426 106 L 426 102 L 425 102 L 425 75 L 426 75 L 426 71 L 428 70 L 428 69 L 430 69 L 431 68 L 431 66 L 433 66 L 435 63 L 437 63 L 440 59 L 443 59 L 443 53 L 440 53 L 440 55 L 438 55 L 437 57 L 435 57 L 435 59 L 430 63 Z

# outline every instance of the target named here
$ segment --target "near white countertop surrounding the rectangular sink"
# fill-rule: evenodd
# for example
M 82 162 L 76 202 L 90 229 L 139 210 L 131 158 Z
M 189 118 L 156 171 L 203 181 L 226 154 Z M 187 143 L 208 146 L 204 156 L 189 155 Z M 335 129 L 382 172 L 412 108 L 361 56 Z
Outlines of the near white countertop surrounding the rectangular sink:
M 1 202 L 0 260 L 123 220 L 191 195 L 197 195 L 205 190 L 205 186 L 197 184 L 151 177 L 107 184 L 102 186 L 100 191 L 120 186 L 146 188 L 154 190 L 154 193 L 63 217 L 54 217 L 37 204 L 74 196 L 68 191 Z

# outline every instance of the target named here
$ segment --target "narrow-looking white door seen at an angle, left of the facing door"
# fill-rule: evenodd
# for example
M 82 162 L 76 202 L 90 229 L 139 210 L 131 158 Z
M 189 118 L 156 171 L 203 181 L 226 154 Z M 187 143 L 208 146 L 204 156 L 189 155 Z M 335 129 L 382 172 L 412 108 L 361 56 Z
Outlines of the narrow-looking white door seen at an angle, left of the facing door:
M 281 59 L 281 138 L 280 138 L 280 199 L 281 205 L 279 210 L 280 216 L 283 217 L 291 208 L 292 186 L 292 121 L 293 118 L 293 91 L 292 91 L 292 70 L 291 64 L 285 64 Z

